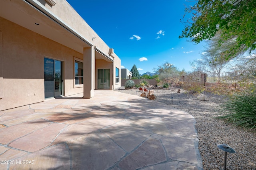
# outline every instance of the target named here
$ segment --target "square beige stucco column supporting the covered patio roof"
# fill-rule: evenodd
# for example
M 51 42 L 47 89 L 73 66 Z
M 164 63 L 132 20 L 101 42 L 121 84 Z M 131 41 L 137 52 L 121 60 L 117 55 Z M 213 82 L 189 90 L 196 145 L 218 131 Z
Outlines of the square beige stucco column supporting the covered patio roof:
M 84 97 L 94 97 L 94 47 L 84 48 Z

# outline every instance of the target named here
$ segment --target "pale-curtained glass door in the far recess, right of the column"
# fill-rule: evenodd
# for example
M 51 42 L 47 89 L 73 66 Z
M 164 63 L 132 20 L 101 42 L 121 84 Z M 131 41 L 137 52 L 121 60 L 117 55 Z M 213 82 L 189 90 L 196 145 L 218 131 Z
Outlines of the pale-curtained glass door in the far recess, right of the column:
M 98 89 L 110 89 L 110 69 L 98 69 Z

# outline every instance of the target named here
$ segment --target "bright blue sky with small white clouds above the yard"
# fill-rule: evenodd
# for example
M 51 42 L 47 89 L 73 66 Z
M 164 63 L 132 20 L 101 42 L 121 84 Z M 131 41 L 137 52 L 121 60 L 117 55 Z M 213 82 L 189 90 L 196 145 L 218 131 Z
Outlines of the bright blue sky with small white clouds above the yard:
M 179 39 L 186 0 L 67 0 L 121 59 L 122 68 L 135 64 L 140 74 L 168 61 L 191 71 L 204 42 Z

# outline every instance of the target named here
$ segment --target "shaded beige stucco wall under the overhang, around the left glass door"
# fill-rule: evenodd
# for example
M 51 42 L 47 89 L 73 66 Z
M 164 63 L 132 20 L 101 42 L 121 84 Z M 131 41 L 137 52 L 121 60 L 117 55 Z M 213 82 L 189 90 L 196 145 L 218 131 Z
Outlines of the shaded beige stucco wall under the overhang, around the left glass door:
M 44 57 L 63 61 L 65 95 L 74 88 L 73 57 L 83 55 L 0 17 L 2 33 L 2 99 L 0 110 L 44 101 Z

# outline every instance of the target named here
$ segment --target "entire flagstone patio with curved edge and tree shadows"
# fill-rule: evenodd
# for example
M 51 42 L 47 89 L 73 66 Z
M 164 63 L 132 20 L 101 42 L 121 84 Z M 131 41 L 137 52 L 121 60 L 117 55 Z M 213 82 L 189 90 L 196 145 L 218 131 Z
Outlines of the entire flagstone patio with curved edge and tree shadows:
M 94 95 L 1 111 L 0 160 L 15 164 L 0 169 L 202 170 L 194 117 L 136 95 Z

